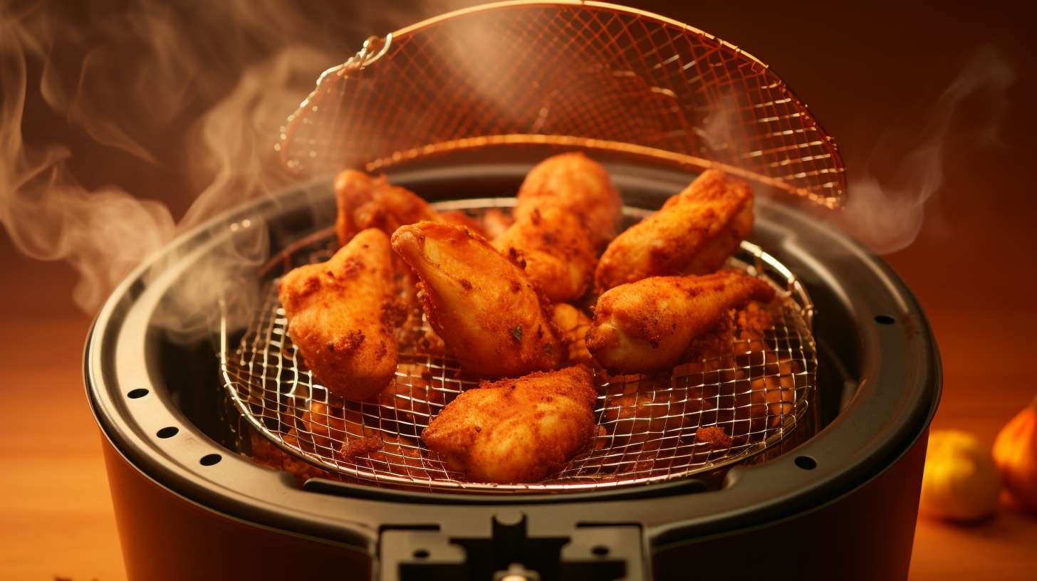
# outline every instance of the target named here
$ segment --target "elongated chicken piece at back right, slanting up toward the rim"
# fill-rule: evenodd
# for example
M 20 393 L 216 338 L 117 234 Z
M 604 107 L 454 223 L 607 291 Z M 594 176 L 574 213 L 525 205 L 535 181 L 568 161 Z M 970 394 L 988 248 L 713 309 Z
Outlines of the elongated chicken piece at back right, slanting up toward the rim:
M 749 184 L 707 170 L 612 241 L 597 264 L 595 287 L 604 292 L 650 276 L 713 272 L 752 228 Z

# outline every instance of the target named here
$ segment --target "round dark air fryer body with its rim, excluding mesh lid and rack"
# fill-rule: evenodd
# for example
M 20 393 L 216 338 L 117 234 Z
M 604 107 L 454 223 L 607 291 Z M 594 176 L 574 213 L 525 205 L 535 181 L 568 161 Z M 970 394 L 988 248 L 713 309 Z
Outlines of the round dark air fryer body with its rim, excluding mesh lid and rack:
M 430 200 L 505 196 L 529 167 L 390 178 Z M 610 170 L 627 205 L 649 209 L 692 177 Z M 493 579 L 513 565 L 543 580 L 906 578 L 941 389 L 928 324 L 910 292 L 861 246 L 806 212 L 767 199 L 757 208 L 752 241 L 798 276 L 816 306 L 823 427 L 788 453 L 726 474 L 552 495 L 318 479 L 300 489 L 243 457 L 217 331 L 177 342 L 157 317 L 178 285 L 207 283 L 199 260 L 250 227 L 265 223 L 276 251 L 330 226 L 330 183 L 188 232 L 116 290 L 86 344 L 87 392 L 130 577 Z

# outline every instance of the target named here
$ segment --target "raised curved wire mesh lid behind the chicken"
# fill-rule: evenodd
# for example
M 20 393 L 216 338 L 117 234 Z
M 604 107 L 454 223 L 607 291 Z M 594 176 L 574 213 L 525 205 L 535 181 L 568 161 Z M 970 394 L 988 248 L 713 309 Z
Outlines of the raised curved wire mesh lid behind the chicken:
M 597 2 L 487 4 L 372 37 L 321 75 L 275 147 L 318 175 L 523 144 L 720 165 L 826 208 L 845 197 L 835 142 L 765 64 Z

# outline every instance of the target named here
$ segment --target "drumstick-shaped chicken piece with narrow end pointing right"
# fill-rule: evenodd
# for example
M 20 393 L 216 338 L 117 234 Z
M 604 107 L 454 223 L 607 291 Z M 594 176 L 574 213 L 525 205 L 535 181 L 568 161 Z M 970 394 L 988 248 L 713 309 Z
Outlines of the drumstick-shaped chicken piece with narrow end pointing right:
M 660 276 L 616 286 L 601 295 L 587 349 L 612 372 L 667 369 L 728 310 L 749 301 L 770 302 L 769 284 L 740 271 L 704 276 Z

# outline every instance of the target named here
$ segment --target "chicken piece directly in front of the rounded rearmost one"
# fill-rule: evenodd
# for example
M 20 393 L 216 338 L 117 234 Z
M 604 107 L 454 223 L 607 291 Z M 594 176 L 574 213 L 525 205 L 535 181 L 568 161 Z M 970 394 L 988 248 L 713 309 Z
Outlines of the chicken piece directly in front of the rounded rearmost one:
M 594 274 L 594 247 L 576 215 L 543 204 L 493 242 L 494 248 L 522 265 L 552 302 L 577 299 Z

